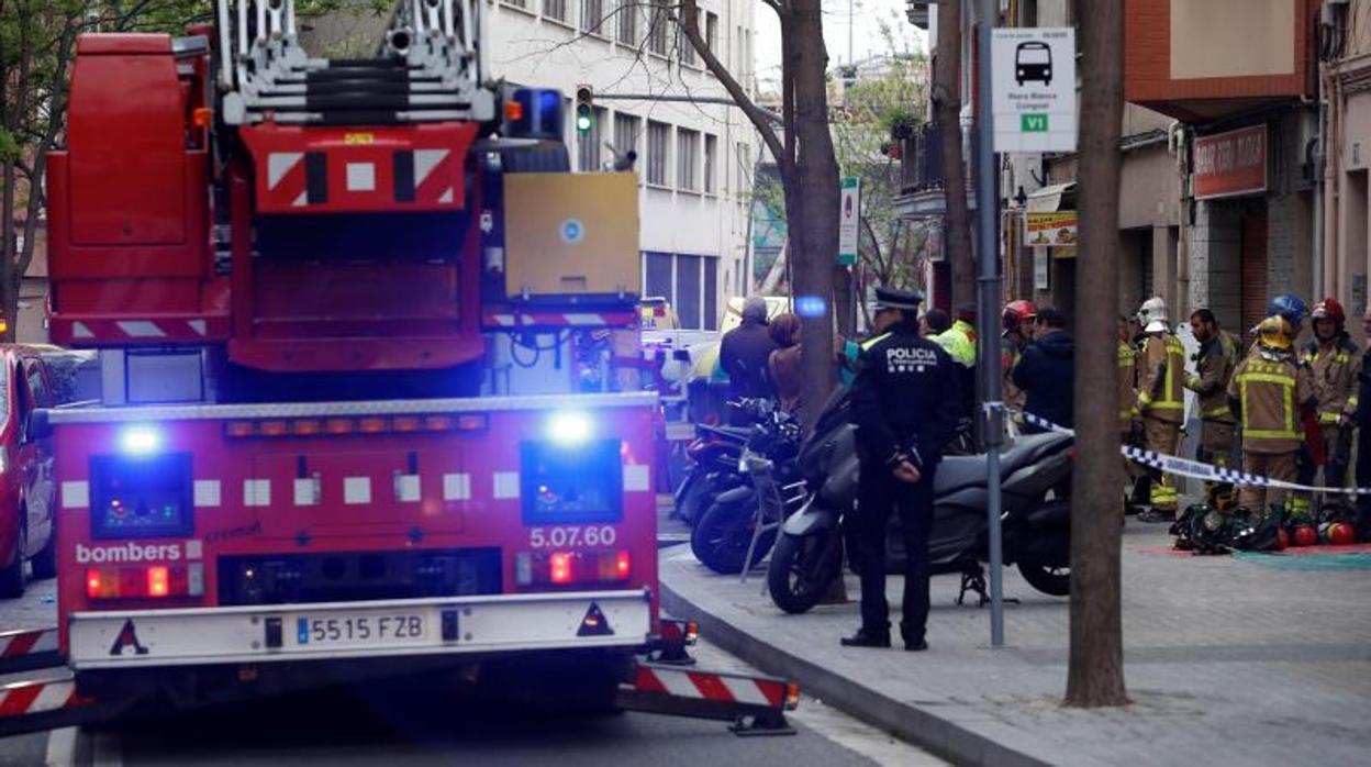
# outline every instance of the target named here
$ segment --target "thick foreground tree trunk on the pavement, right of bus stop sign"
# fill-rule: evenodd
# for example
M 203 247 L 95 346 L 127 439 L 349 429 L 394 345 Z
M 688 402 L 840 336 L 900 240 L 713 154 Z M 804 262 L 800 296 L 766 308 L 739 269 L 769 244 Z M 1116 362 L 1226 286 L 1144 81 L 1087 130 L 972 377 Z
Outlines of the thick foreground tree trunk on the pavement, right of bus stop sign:
M 1098 0 L 1083 21 L 1080 96 L 1080 252 L 1076 317 L 1119 305 L 1119 132 L 1123 122 L 1123 0 Z M 1069 707 L 1126 705 L 1119 550 L 1123 460 L 1119 457 L 1115 322 L 1076 327 L 1076 465 L 1071 494 Z

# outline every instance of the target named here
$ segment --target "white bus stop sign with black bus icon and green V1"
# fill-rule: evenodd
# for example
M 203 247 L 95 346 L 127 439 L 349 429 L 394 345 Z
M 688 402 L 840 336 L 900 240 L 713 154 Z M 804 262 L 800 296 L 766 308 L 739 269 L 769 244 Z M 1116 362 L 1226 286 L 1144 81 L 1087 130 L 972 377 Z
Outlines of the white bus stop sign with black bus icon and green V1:
M 1076 151 L 1076 30 L 995 29 L 997 152 Z

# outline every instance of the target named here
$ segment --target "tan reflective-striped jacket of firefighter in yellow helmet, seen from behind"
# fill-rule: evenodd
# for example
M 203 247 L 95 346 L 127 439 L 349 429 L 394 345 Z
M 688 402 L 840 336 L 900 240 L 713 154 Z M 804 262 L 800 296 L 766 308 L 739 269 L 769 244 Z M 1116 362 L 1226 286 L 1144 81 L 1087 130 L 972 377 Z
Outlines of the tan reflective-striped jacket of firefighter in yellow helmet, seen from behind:
M 1242 420 L 1242 450 L 1278 456 L 1304 443 L 1300 408 L 1313 402 L 1309 370 L 1293 354 L 1257 349 L 1238 364 L 1228 401 Z

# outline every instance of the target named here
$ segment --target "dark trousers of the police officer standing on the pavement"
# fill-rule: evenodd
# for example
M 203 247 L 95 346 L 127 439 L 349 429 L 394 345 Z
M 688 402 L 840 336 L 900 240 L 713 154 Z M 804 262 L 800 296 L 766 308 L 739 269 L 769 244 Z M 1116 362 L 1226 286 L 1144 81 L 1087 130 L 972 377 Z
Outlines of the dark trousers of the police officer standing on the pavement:
M 924 638 L 928 623 L 928 534 L 934 524 L 934 475 L 923 471 L 910 484 L 895 479 L 879 461 L 861 464 L 861 505 L 857 510 L 857 568 L 861 575 L 861 624 L 871 635 L 890 628 L 886 602 L 886 531 L 890 513 L 899 510 L 905 535 L 905 601 L 899 628 L 905 642 Z

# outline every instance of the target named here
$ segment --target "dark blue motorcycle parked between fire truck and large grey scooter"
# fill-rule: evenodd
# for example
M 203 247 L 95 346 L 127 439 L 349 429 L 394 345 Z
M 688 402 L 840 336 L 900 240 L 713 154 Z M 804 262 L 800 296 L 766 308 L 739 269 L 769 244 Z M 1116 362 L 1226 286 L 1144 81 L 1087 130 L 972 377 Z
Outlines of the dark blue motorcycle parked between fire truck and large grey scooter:
M 801 425 L 795 416 L 765 405 L 755 405 L 757 423 L 751 427 L 747 445 L 738 460 L 738 473 L 718 479 L 718 494 L 713 505 L 701 516 L 691 531 L 691 552 L 705 567 L 723 575 L 743 571 L 744 563 L 755 565 L 771 550 L 776 538 L 775 528 L 764 528 L 755 545 L 753 532 L 765 515 L 764 494 L 772 487 L 780 488 L 781 506 L 798 508 L 794 460 L 799 451 Z M 731 487 L 724 482 L 732 480 Z M 772 483 L 777 484 L 772 484 Z M 788 498 L 788 501 L 787 501 Z M 749 561 L 749 549 L 753 556 Z

